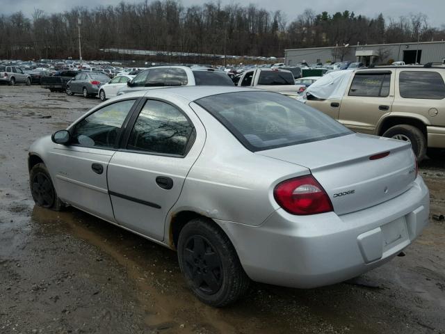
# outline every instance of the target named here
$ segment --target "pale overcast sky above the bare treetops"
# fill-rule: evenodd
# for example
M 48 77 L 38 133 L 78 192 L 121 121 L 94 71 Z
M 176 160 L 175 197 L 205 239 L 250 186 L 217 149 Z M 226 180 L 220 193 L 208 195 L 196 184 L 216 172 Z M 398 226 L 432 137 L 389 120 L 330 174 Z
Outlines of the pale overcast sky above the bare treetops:
M 63 12 L 69 10 L 73 6 L 95 6 L 116 5 L 121 0 L 0 0 L 1 13 L 10 14 L 22 10 L 26 15 L 31 15 L 35 8 L 44 10 L 47 13 Z M 140 1 L 126 1 L 140 2 Z M 184 6 L 202 4 L 208 2 L 205 0 L 181 0 Z M 444 11 L 445 0 L 222 0 L 221 3 L 240 3 L 247 5 L 248 3 L 256 3 L 266 10 L 282 10 L 286 13 L 287 21 L 295 19 L 305 8 L 312 8 L 316 13 L 327 11 L 335 13 L 337 11 L 349 10 L 356 14 L 375 17 L 382 12 L 387 17 L 399 17 L 401 15 L 409 15 L 410 13 L 423 13 L 428 15 L 429 22 L 432 26 L 440 27 L 445 24 Z

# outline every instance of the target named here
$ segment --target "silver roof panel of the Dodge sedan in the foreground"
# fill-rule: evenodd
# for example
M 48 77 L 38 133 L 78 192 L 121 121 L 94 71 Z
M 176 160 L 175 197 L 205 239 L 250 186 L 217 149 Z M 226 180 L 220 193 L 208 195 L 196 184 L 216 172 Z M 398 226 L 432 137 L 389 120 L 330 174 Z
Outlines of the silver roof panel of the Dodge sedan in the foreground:
M 163 87 L 149 90 L 138 90 L 132 93 L 120 95 L 122 98 L 128 97 L 160 97 L 168 99 L 169 95 L 176 95 L 184 100 L 193 102 L 202 97 L 211 95 L 236 93 L 243 91 L 264 92 L 264 90 L 255 88 L 241 88 L 236 86 L 182 86 L 182 87 Z

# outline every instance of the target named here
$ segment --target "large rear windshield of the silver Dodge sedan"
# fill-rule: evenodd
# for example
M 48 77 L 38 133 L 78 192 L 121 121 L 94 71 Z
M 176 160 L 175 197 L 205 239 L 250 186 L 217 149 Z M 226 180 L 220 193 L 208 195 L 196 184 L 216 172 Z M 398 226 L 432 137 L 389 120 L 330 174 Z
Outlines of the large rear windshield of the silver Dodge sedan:
M 279 93 L 227 93 L 203 97 L 195 103 L 252 152 L 353 133 L 324 113 Z

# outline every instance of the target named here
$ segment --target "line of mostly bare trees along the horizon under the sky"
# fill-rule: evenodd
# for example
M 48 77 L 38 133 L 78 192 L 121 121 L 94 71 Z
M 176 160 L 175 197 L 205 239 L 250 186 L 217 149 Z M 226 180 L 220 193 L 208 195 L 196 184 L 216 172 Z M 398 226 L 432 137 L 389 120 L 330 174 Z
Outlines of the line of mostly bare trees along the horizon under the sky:
M 280 10 L 253 4 L 182 6 L 177 0 L 121 2 L 63 13 L 35 10 L 0 15 L 0 58 L 78 58 L 78 19 L 83 58 L 109 58 L 100 49 L 283 56 L 285 48 L 443 40 L 445 29 L 426 15 L 369 18 L 345 10 L 320 14 L 304 10 L 288 22 Z

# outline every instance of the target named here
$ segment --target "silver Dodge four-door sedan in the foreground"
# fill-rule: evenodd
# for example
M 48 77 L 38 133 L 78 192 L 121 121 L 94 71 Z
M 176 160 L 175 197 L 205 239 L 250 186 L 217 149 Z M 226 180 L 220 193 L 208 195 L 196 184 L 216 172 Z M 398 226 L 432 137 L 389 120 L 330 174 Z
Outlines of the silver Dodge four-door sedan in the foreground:
M 205 303 L 251 280 L 310 288 L 389 261 L 428 222 L 410 145 L 284 95 L 183 87 L 96 106 L 29 150 L 37 205 L 72 205 L 177 250 Z

